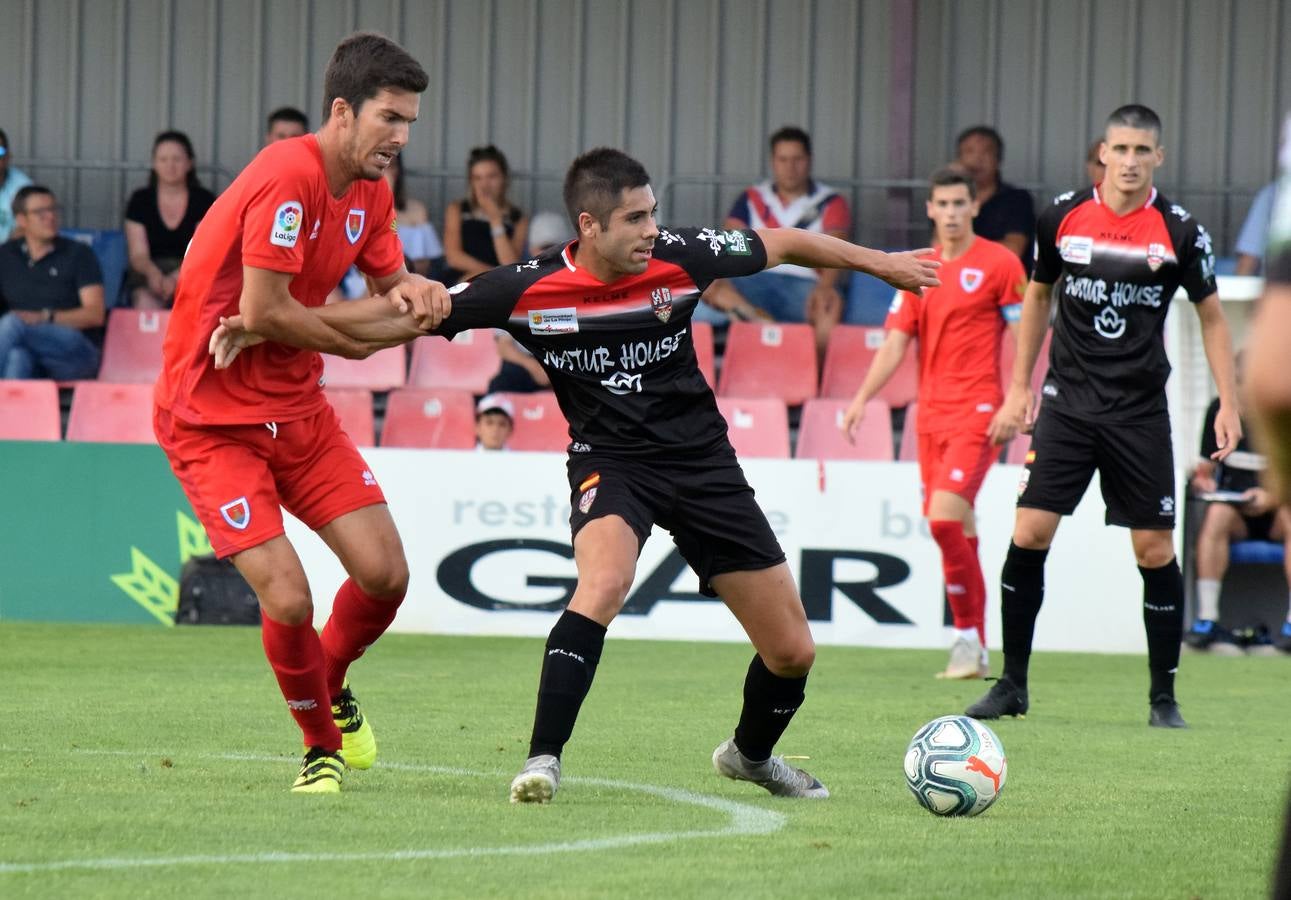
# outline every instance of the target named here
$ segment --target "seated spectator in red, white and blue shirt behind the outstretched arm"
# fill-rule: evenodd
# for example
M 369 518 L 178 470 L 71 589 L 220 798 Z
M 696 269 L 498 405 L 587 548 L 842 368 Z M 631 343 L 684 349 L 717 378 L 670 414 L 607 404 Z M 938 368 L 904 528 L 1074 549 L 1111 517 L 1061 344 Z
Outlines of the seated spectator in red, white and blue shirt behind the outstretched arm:
M 740 195 L 727 213 L 726 227 L 797 227 L 847 240 L 852 230 L 851 208 L 833 187 L 812 181 L 811 136 L 786 125 L 771 136 L 769 145 L 771 178 Z M 824 356 L 829 333 L 843 316 L 847 285 L 840 279 L 844 274 L 842 269 L 815 270 L 785 263 L 715 284 L 705 293 L 705 300 L 710 307 L 736 318 L 809 323 Z M 726 320 L 702 306 L 696 312 L 701 322 Z

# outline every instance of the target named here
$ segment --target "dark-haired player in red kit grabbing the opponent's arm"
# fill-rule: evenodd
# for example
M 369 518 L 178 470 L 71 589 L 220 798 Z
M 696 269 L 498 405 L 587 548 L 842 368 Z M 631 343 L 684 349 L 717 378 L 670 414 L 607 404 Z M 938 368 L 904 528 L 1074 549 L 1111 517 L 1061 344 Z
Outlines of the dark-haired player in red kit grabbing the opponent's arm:
M 292 790 L 340 790 L 376 740 L 345 682 L 386 630 L 408 564 L 381 488 L 323 394 L 319 353 L 360 343 L 310 312 L 351 263 L 378 292 L 416 296 L 431 316 L 443 285 L 405 270 L 381 177 L 408 141 L 427 77 L 398 44 L 343 40 L 324 76 L 323 127 L 265 147 L 216 200 L 188 247 L 156 385 L 154 426 L 221 558 L 259 599 L 265 655 L 306 754 Z M 240 314 L 262 345 L 236 369 L 208 354 L 222 316 Z M 321 638 L 309 581 L 283 533 L 285 507 L 318 532 L 350 577 Z

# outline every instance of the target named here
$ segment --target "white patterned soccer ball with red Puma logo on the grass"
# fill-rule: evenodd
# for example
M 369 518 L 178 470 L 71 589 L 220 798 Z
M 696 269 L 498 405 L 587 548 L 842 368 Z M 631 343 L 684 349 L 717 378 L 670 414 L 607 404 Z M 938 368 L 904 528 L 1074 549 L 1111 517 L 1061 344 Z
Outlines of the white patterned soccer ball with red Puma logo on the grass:
M 939 816 L 976 816 L 1004 789 L 1008 761 L 995 732 L 967 715 L 919 728 L 905 752 L 905 784 Z

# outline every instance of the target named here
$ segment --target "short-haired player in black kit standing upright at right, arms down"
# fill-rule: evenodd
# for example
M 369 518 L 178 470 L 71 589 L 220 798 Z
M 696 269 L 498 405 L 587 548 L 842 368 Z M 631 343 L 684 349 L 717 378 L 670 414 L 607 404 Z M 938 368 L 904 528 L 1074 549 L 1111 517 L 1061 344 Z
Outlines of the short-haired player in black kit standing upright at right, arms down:
M 1059 196 L 1041 214 L 1035 272 L 1022 300 L 1012 385 L 1001 409 L 1030 425 L 1032 368 L 1059 297 L 1050 371 L 1032 451 L 1019 486 L 1013 540 L 1001 573 L 1004 673 L 968 708 L 975 718 L 1022 715 L 1035 617 L 1044 595 L 1044 557 L 1061 516 L 1074 511 L 1095 470 L 1106 523 L 1130 528 L 1143 576 L 1152 726 L 1186 727 L 1175 700 L 1184 630 L 1184 586 L 1175 560 L 1175 462 L 1162 329 L 1183 287 L 1201 320 L 1206 359 L 1219 389 L 1215 440 L 1221 460 L 1242 436 L 1233 347 L 1215 291 L 1210 235 L 1153 187 L 1164 159 L 1161 120 L 1145 106 L 1108 118 L 1101 185 Z M 1056 287 L 1055 287 L 1056 285 Z

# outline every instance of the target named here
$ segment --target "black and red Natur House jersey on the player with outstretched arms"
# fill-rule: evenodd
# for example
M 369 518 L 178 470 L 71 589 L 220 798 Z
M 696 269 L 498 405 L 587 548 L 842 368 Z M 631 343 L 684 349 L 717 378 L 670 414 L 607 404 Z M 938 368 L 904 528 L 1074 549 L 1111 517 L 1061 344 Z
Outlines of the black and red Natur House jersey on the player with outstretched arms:
M 505 328 L 551 380 L 571 449 L 625 456 L 707 455 L 726 420 L 700 371 L 691 314 L 718 278 L 767 266 L 754 231 L 664 229 L 646 271 L 598 281 L 577 244 L 498 266 L 454 288 L 435 332 Z

